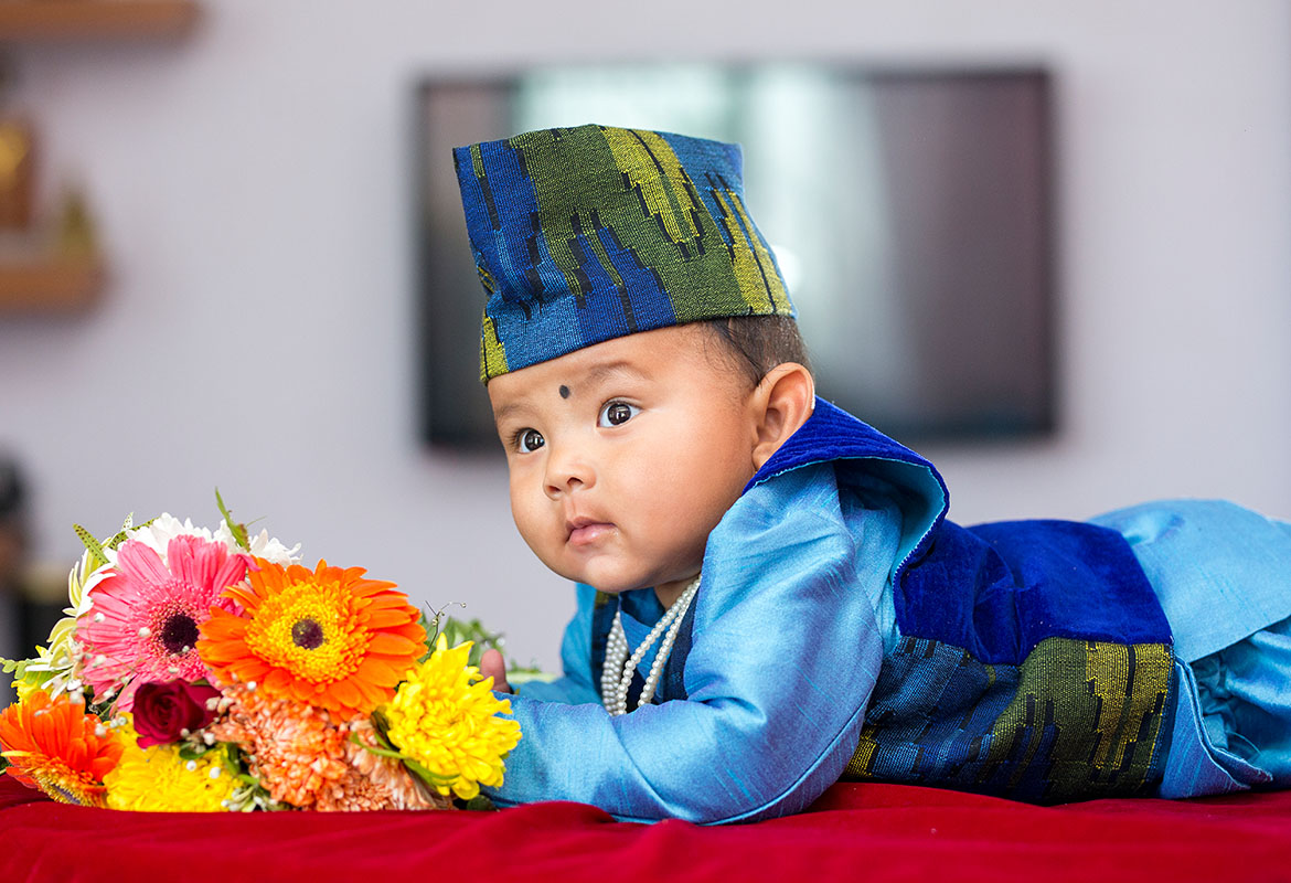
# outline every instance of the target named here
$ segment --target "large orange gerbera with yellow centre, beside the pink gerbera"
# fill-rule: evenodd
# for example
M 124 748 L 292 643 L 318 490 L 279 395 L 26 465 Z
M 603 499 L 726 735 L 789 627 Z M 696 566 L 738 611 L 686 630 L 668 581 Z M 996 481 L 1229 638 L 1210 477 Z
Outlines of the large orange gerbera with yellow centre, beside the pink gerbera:
M 395 584 L 361 567 L 314 571 L 256 559 L 250 586 L 230 586 L 241 614 L 212 608 L 198 653 L 221 682 L 254 682 L 269 697 L 307 702 L 342 719 L 394 696 L 426 652 L 426 630 Z

